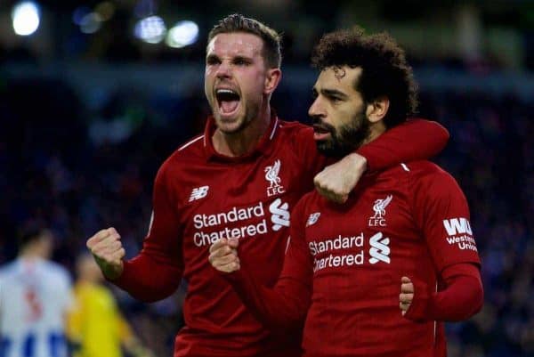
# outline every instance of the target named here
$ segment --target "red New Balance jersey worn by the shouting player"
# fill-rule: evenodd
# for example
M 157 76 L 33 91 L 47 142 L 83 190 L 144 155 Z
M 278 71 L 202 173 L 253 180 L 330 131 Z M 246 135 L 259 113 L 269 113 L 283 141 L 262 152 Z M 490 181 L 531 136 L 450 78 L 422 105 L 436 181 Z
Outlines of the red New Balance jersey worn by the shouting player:
M 316 150 L 312 128 L 276 117 L 255 150 L 239 158 L 215 152 L 214 130 L 210 119 L 205 134 L 176 150 L 159 169 L 149 234 L 115 283 L 139 299 L 155 301 L 187 280 L 186 326 L 176 337 L 175 357 L 294 356 L 299 332 L 272 335 L 211 267 L 208 249 L 217 239 L 239 238 L 240 255 L 254 261 L 248 272 L 273 285 L 284 261 L 290 211 L 312 190 L 313 176 L 327 159 Z M 370 167 L 431 156 L 448 139 L 441 126 L 425 121 L 389 132 L 361 148 Z M 392 148 L 399 142 L 401 148 Z M 374 156 L 373 148 L 380 154 Z

